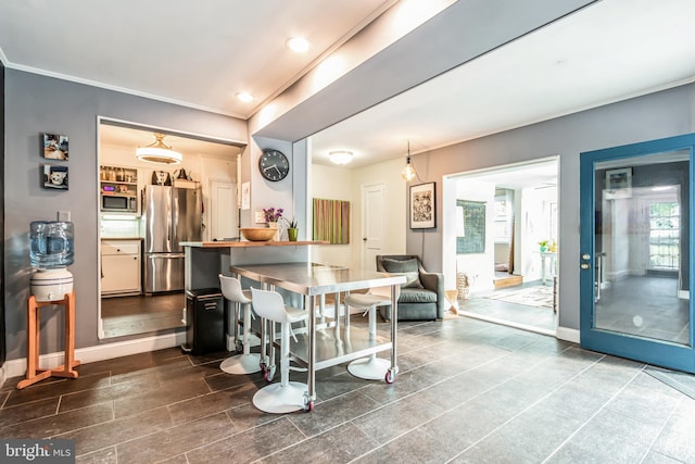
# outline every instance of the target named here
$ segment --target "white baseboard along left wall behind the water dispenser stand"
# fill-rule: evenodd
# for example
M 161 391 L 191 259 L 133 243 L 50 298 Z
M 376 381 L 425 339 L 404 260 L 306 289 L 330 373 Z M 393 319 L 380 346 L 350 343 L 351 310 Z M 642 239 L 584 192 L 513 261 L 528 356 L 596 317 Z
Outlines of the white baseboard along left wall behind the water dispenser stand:
M 186 333 L 161 335 L 156 337 L 137 338 L 134 340 L 116 341 L 115 343 L 97 344 L 94 347 L 79 348 L 75 350 L 75 359 L 81 364 L 97 361 L 112 360 L 114 358 L 130 354 L 146 353 L 178 347 L 186 342 Z M 53 368 L 63 364 L 64 353 L 41 354 L 39 365 L 41 368 Z M 26 359 L 7 361 L 2 366 L 2 384 L 5 378 L 20 377 L 26 374 Z

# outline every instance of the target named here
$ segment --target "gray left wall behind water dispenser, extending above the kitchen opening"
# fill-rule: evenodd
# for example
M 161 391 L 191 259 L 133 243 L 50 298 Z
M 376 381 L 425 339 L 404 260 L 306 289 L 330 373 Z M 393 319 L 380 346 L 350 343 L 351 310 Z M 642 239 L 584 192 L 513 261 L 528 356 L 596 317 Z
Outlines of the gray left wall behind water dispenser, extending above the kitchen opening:
M 99 344 L 97 116 L 141 123 L 163 129 L 247 140 L 244 121 L 81 84 L 24 73 L 5 72 L 5 322 L 8 359 L 26 355 L 26 300 L 31 268 L 28 226 L 72 212 L 75 225 L 76 348 Z M 40 187 L 40 135 L 70 137 L 70 190 Z M 54 162 L 56 163 L 56 162 Z M 56 163 L 58 164 L 58 163 Z M 62 349 L 62 311 L 45 311 L 41 352 Z

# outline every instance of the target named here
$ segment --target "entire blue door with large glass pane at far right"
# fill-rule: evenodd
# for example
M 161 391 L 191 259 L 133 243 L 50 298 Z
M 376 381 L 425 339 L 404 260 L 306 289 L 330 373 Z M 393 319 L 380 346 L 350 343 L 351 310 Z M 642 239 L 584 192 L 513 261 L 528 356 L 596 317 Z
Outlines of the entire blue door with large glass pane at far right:
M 581 153 L 581 344 L 695 373 L 695 135 Z

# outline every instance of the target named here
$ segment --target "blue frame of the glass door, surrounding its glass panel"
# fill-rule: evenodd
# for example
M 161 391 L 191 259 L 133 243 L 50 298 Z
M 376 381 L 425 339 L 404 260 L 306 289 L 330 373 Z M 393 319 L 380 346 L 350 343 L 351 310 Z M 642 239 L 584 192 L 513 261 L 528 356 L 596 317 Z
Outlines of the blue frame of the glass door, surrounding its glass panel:
M 679 150 L 688 150 L 690 152 L 690 237 L 687 237 L 686 240 L 690 241 L 692 254 L 693 237 L 695 236 L 695 217 L 693 215 L 695 211 L 693 208 L 693 200 L 695 198 L 693 191 L 695 190 L 693 188 L 695 179 L 695 162 L 693 160 L 695 134 L 580 153 L 580 255 L 578 256 L 578 265 L 589 264 L 589 268 L 581 269 L 580 272 L 580 344 L 582 348 L 593 351 L 695 373 L 695 350 L 693 343 L 695 326 L 692 323 L 694 319 L 694 304 L 692 299 L 690 300 L 691 324 L 688 346 L 594 328 L 596 266 L 594 265 L 594 259 L 591 256 L 596 255 L 594 243 L 596 227 L 594 213 L 596 195 L 595 164 L 598 161 L 630 159 L 650 153 Z M 589 260 L 583 260 L 583 255 L 589 255 Z M 695 283 L 692 260 L 690 262 L 688 283 L 688 288 L 692 289 Z

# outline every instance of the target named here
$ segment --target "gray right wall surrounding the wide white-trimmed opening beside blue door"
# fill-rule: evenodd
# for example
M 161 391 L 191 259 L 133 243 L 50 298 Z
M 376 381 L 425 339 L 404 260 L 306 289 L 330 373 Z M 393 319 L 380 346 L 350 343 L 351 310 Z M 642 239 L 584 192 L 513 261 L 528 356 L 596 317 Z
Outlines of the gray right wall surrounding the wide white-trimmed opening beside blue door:
M 691 84 L 418 154 L 414 163 L 441 199 L 443 176 L 559 155 L 559 324 L 579 330 L 579 153 L 692 133 L 694 102 Z M 426 268 L 442 268 L 442 210 L 437 229 L 407 233 L 407 253 L 425 250 Z

